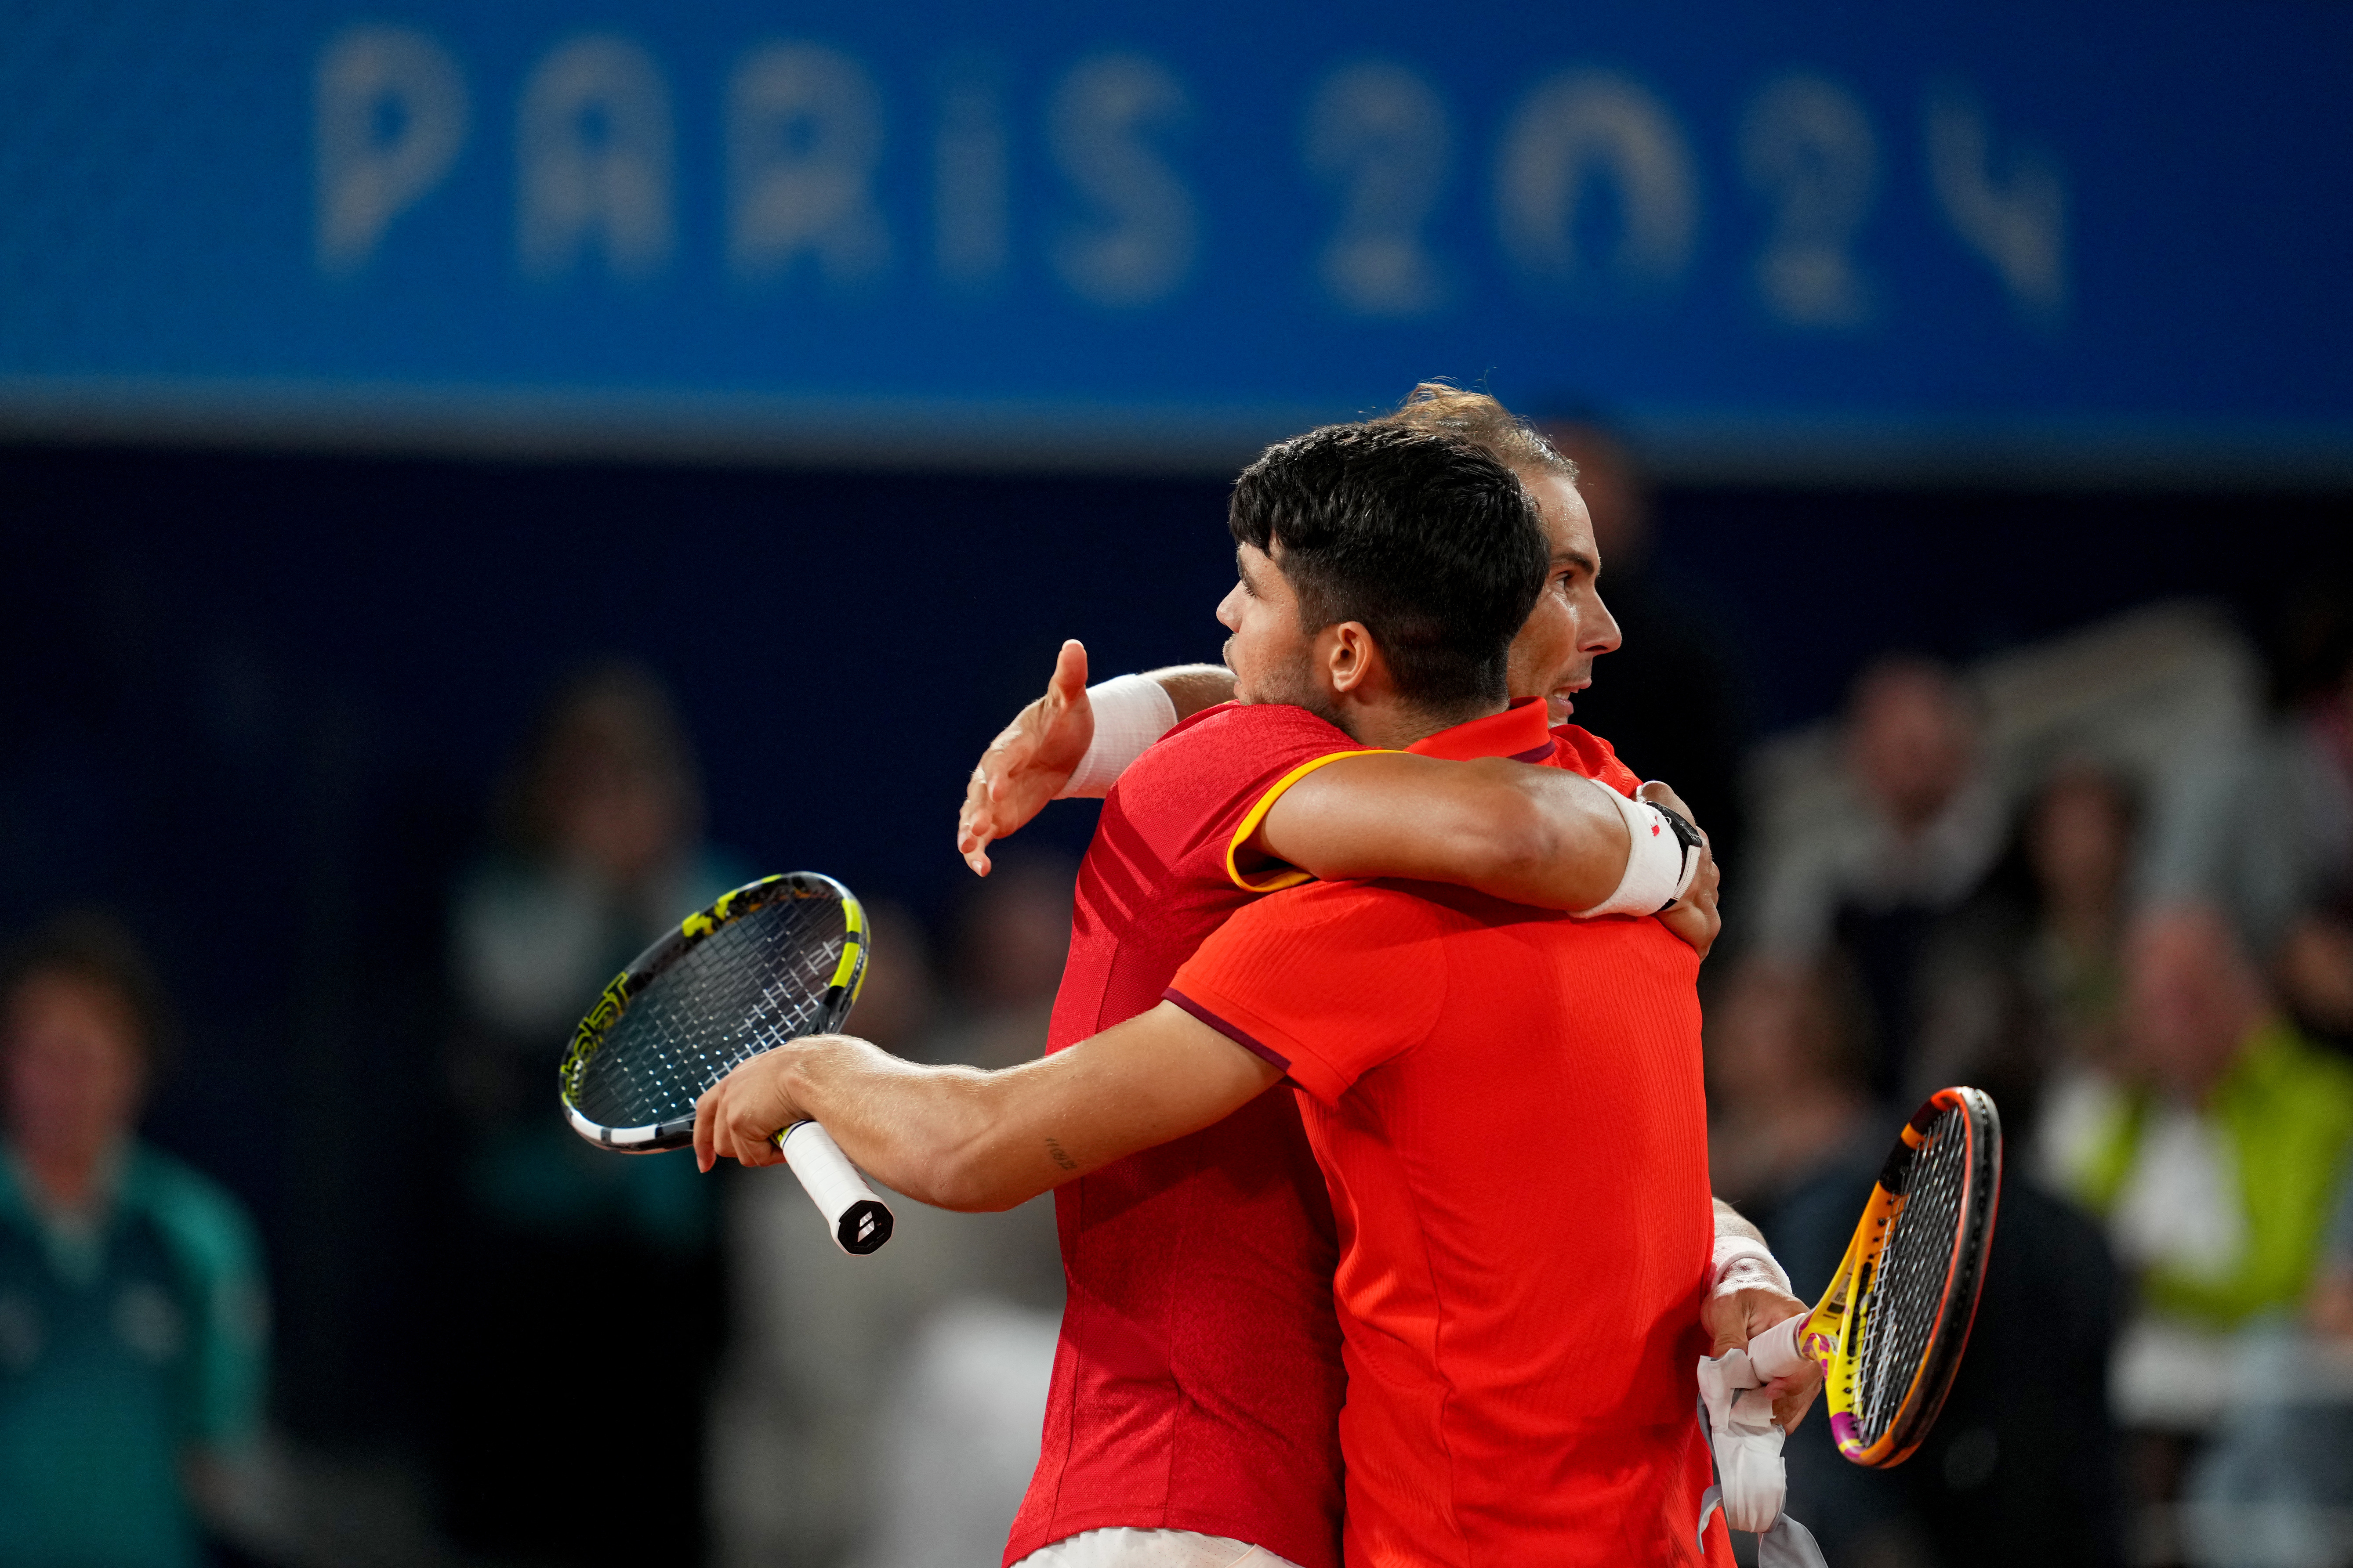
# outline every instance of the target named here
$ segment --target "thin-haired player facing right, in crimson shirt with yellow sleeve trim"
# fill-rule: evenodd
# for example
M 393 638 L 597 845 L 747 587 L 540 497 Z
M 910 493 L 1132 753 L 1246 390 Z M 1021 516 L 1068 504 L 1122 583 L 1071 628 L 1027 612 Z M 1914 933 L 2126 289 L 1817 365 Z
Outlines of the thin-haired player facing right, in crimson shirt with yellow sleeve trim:
M 1513 696 L 1541 696 L 1551 719 L 1567 719 L 1595 656 L 1619 644 L 1598 592 L 1600 557 L 1574 465 L 1494 397 L 1440 383 L 1414 388 L 1374 423 L 1457 435 L 1511 468 L 1537 498 L 1551 562 L 1513 637 L 1506 679 Z M 1405 581 L 1421 576 L 1407 569 Z M 1066 644 L 1054 689 L 974 769 L 960 851 L 986 870 L 988 837 L 1012 832 L 1056 792 L 1104 795 L 1176 724 L 1179 705 L 1198 712 L 1224 703 L 1235 696 L 1233 682 L 1231 670 L 1191 668 L 1120 677 L 1087 693 L 1085 654 Z M 1252 701 L 1266 693 L 1240 696 L 1245 705 L 1184 726 L 1172 745 L 1153 750 L 1144 773 L 1111 790 L 1080 867 L 1052 1046 L 1155 1006 L 1219 922 L 1252 891 L 1297 882 L 1299 870 L 1457 882 L 1562 910 L 1593 910 L 1598 900 L 1652 907 L 1640 903 L 1642 877 L 1633 875 L 1619 820 L 1638 783 L 1605 741 L 1569 724 L 1553 729 L 1548 762 L 1562 771 L 1440 762 L 1454 755 L 1445 738 L 1407 752 L 1362 750 L 1362 741 L 1297 708 Z M 1664 785 L 1640 792 L 1680 809 Z M 1661 922 L 1706 952 L 1715 936 L 1713 863 L 1699 867 L 1689 896 Z M 1271 1544 L 1311 1537 L 1308 1519 L 1322 1514 L 1320 1537 L 1337 1540 L 1332 1241 L 1322 1182 L 1294 1119 L 1282 1095 L 1271 1095 L 1233 1126 L 1056 1192 L 1071 1305 L 1040 1465 L 1007 1563 L 1078 1535 L 1040 1554 L 1035 1568 L 1078 1568 L 1064 1563 L 1066 1552 L 1151 1568 L 1167 1561 L 1158 1552 L 1181 1533 L 1169 1523 L 1176 1519 Z M 1205 1168 L 1224 1180 L 1200 1180 Z M 1254 1244 L 1238 1255 L 1212 1251 L 1209 1239 L 1226 1229 Z M 1751 1326 L 1791 1312 L 1791 1298 L 1746 1220 L 1720 1208 L 1718 1232 L 1722 1295 L 1711 1295 L 1706 1312 L 1718 1349 L 1729 1349 Z M 1169 1286 L 1224 1279 L 1219 1269 L 1231 1272 L 1231 1288 Z M 1146 1352 L 1158 1366 L 1146 1363 Z M 1327 1406 L 1320 1394 L 1329 1394 Z M 1802 1401 L 1788 1399 L 1784 1413 L 1795 1415 Z

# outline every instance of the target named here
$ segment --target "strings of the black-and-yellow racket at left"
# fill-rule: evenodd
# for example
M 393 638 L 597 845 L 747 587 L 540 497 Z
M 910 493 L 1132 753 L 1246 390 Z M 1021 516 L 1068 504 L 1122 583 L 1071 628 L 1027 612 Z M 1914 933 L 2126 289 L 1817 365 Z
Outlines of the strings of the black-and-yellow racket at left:
M 845 938 L 831 898 L 781 898 L 727 922 L 631 1001 L 581 1067 L 574 1107 L 612 1128 L 692 1117 L 734 1067 L 826 1025 Z

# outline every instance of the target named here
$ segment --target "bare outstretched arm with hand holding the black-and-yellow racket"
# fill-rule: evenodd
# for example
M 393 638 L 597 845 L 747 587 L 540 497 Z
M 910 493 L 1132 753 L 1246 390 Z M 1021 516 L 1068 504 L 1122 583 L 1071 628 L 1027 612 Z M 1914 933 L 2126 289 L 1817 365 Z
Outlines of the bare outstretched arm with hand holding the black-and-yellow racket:
M 920 1067 L 847 1034 L 812 1034 L 729 1072 L 694 1107 L 694 1157 L 772 1166 L 769 1138 L 821 1121 L 875 1180 L 922 1204 L 1024 1204 L 1136 1150 L 1221 1121 L 1282 1077 L 1162 1001 L 1035 1063 Z

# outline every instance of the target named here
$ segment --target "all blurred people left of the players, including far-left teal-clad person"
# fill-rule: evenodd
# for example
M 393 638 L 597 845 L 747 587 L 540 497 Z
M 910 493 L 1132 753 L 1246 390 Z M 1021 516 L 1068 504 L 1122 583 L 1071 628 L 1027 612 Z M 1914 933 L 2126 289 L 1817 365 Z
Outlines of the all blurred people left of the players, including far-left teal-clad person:
M 414 1128 L 449 1152 L 447 1288 L 421 1326 L 435 1418 L 391 1509 L 273 1439 L 256 1227 L 139 1138 L 172 1046 L 139 938 L 68 910 L 16 940 L 0 969 L 0 1563 L 995 1559 L 1061 1316 L 1052 1206 L 899 1201 L 896 1244 L 852 1260 L 781 1171 L 616 1157 L 555 1114 L 553 1067 L 605 980 L 758 875 L 701 827 L 668 693 L 595 665 L 518 745 L 449 893 L 445 1093 Z M 1073 872 L 1005 856 L 946 922 L 941 964 L 922 922 L 875 905 L 849 1027 L 920 1060 L 1035 1056 Z M 355 1505 L 374 1519 L 332 1516 Z

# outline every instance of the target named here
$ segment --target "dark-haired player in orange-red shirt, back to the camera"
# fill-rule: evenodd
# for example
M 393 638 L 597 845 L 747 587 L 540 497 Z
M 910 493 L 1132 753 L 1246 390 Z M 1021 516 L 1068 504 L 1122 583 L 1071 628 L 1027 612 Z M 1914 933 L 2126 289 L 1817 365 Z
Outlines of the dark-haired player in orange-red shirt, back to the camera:
M 1504 701 L 1506 646 L 1539 592 L 1544 536 L 1489 456 L 1412 430 L 1315 433 L 1245 475 L 1235 534 L 1245 581 L 1221 618 L 1245 696 L 1329 712 L 1360 745 L 1546 748 L 1541 705 Z M 1482 578 L 1487 590 L 1473 592 Z M 1162 750 L 1186 750 L 1188 733 L 1207 745 L 1217 724 Z M 1120 792 L 1136 783 L 1148 771 Z M 1289 1072 L 1339 1222 L 1348 1561 L 1689 1561 L 1706 1446 L 1687 1368 L 1708 1345 L 1697 1316 L 1715 1232 L 1694 973 L 1697 954 L 1647 914 L 1577 922 L 1475 893 L 1322 884 L 1233 917 L 1158 1006 L 1042 1063 L 918 1070 L 861 1041 L 805 1041 L 715 1088 L 696 1133 L 706 1164 L 767 1164 L 760 1140 L 814 1114 L 913 1197 L 998 1208 L 1200 1128 L 1280 1145 L 1297 1121 L 1228 1112 L 1280 1100 L 1261 1091 Z M 1285 997 L 1318 1001 L 1301 1011 Z M 1092 1347 L 1106 1361 L 1104 1396 L 1141 1425 L 1186 1420 L 1153 1389 L 1120 1389 L 1120 1354 L 1165 1378 L 1172 1354 L 1198 1349 L 1155 1345 L 1155 1333 L 1240 1295 L 1259 1309 L 1266 1366 L 1245 1328 L 1224 1368 L 1191 1366 L 1181 1399 L 1264 1380 L 1233 1394 L 1240 1408 L 1271 1410 L 1287 1394 L 1327 1422 L 1334 1389 L 1315 1347 L 1285 1342 L 1313 1319 L 1285 1300 L 1299 1248 L 1280 1244 L 1301 1227 L 1282 1227 L 1275 1208 L 1261 1215 L 1238 1180 L 1280 1185 L 1282 1166 L 1200 1159 L 1214 1150 L 1195 1143 L 1191 1171 L 1162 1171 L 1141 1211 L 1064 1208 L 1066 1241 L 1073 1218 L 1127 1222 L 1162 1255 L 1200 1265 L 1169 1269 L 1132 1248 L 1132 1272 L 1158 1276 L 1186 1309 L 1129 1321 L 1127 1347 L 1115 1335 Z M 1308 1208 L 1297 1192 L 1285 1199 Z M 1254 1227 L 1266 1215 L 1278 1220 L 1275 1255 Z M 1202 1234 L 1169 1225 L 1186 1218 Z M 1332 1279 L 1311 1274 L 1294 1293 Z M 1073 1300 L 1080 1284 L 1073 1272 Z M 1056 1389 L 1071 1359 L 1066 1338 Z M 1193 1418 L 1195 1432 L 1214 1434 L 1214 1415 Z M 1158 1514 L 1120 1521 L 1134 1502 L 1111 1497 L 1113 1519 L 1061 1530 L 1080 1552 L 1040 1561 L 1231 1563 L 1252 1547 L 1329 1561 L 1320 1434 L 1278 1436 L 1292 1439 L 1278 1453 L 1299 1450 L 1299 1462 L 1257 1476 L 1221 1465 L 1231 1450 L 1198 1455 L 1162 1434 L 1167 1469 L 1202 1472 L 1181 1479 L 1184 1497 L 1153 1476 Z M 1249 1526 L 1252 1505 L 1264 1528 L 1214 1528 Z M 1162 1535 L 1169 1552 L 1085 1554 L 1089 1535 L 1127 1533 Z M 1205 1540 L 1214 1535 L 1226 1540 Z M 1720 1530 L 1713 1540 L 1720 1554 Z

